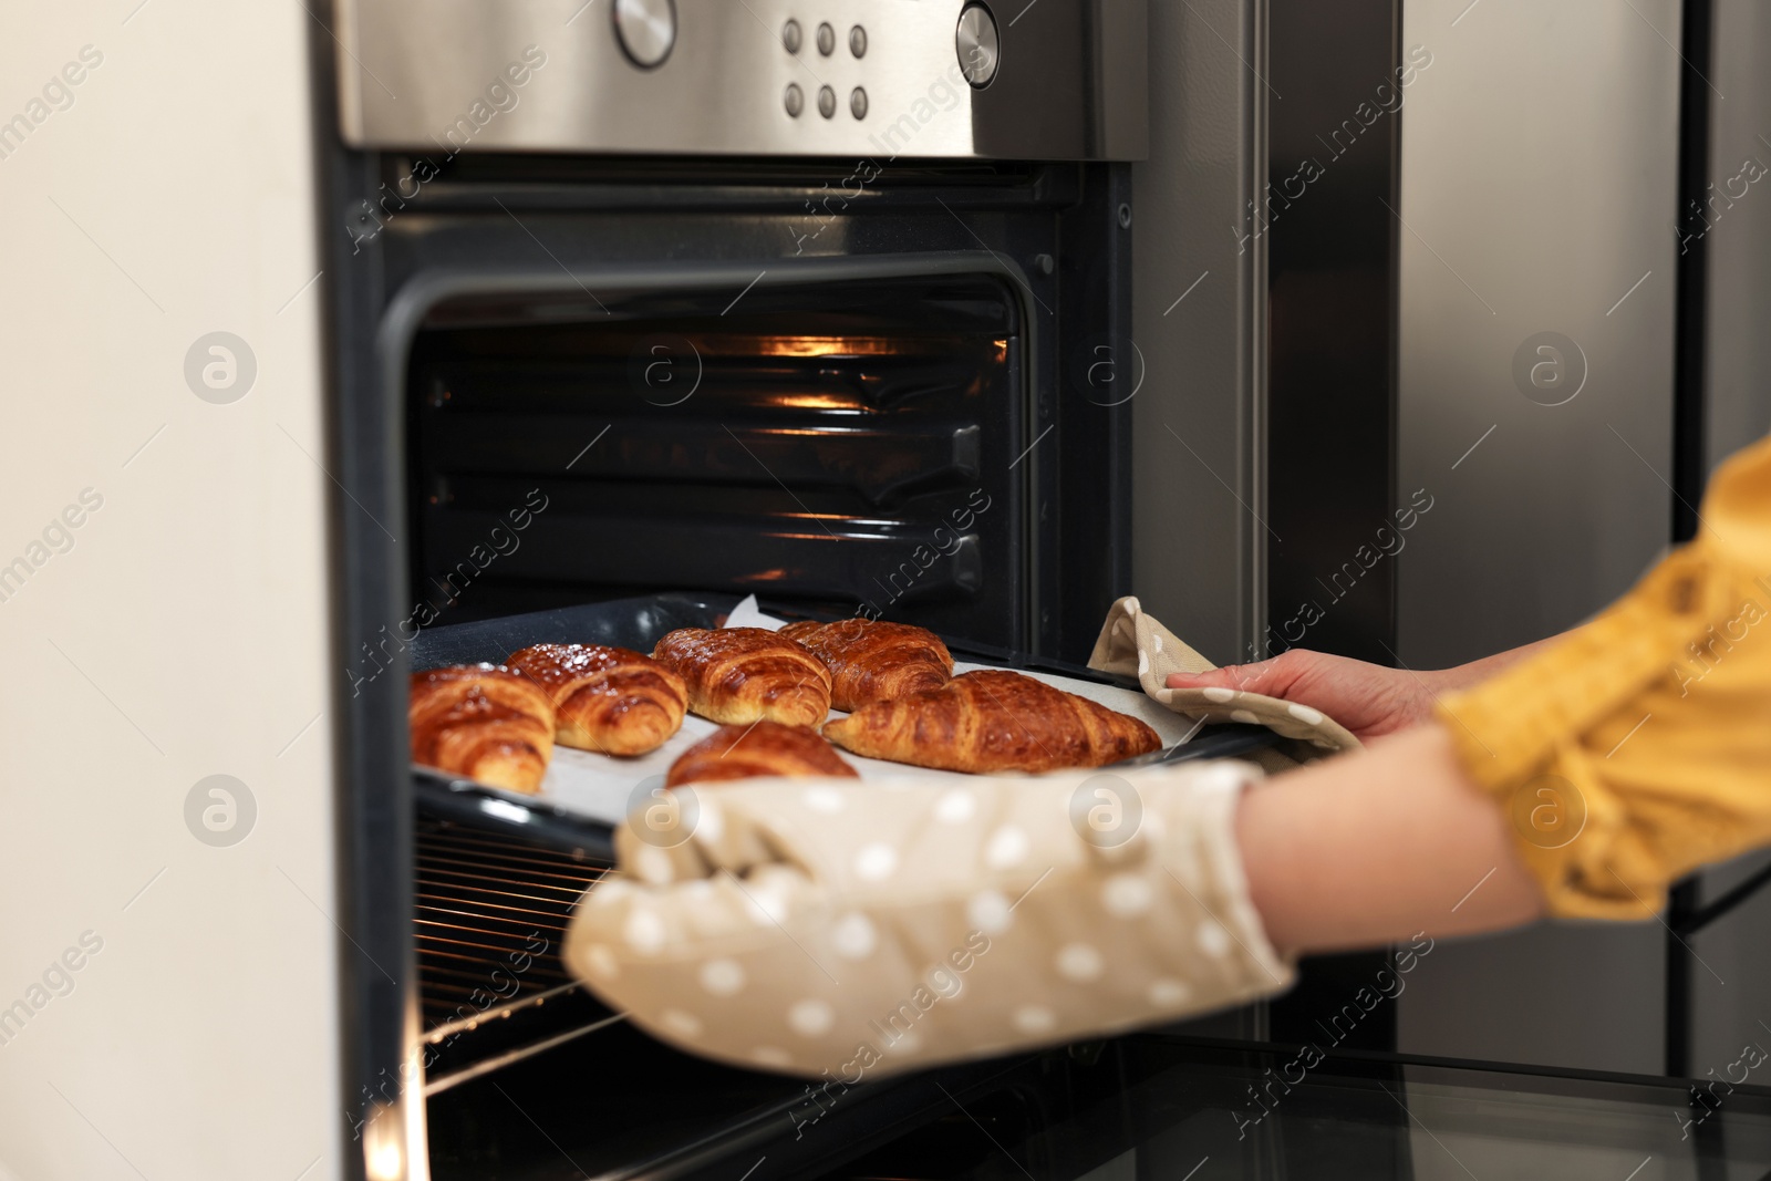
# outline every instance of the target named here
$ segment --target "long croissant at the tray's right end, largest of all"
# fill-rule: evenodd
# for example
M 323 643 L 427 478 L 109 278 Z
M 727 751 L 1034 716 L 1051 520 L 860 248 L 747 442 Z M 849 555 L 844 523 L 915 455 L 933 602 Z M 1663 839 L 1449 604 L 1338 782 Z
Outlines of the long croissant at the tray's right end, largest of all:
M 1103 767 L 1162 745 L 1135 717 L 1008 669 L 861 706 L 824 737 L 864 758 L 969 772 Z

